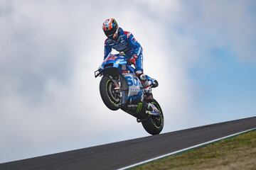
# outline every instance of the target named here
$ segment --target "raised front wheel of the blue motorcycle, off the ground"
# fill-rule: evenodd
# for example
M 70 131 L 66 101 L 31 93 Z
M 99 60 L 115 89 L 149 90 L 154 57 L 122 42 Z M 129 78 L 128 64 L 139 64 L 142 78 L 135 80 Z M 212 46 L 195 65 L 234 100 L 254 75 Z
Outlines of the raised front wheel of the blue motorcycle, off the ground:
M 109 77 L 102 77 L 100 81 L 100 96 L 107 108 L 117 111 L 121 106 L 119 91 L 114 91 L 114 84 Z

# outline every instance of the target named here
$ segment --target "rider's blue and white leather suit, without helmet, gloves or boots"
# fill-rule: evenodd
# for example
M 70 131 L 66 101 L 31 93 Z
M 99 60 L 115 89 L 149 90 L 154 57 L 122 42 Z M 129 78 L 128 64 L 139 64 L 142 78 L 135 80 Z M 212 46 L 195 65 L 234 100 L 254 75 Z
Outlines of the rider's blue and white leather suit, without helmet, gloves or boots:
M 124 52 L 128 59 L 131 58 L 132 55 L 137 55 L 138 59 L 135 64 L 135 69 L 136 71 L 143 72 L 142 46 L 137 42 L 132 33 L 124 31 L 122 28 L 119 28 L 118 34 L 117 40 L 112 40 L 111 38 L 105 40 L 104 59 L 110 54 L 112 49 L 118 52 Z

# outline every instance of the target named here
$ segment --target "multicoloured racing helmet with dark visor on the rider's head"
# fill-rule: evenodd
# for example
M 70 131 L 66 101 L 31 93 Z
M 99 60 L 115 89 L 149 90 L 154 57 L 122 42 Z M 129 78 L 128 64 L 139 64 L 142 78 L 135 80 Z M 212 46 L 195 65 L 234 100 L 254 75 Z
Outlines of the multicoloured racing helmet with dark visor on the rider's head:
M 102 29 L 108 38 L 117 38 L 118 28 L 117 21 L 114 18 L 109 18 L 102 24 Z

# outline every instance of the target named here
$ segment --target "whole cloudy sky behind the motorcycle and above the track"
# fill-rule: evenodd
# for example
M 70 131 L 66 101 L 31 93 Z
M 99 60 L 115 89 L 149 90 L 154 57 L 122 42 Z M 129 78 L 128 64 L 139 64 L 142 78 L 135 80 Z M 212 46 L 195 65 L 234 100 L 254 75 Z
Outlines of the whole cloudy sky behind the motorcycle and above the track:
M 100 98 L 107 18 L 144 49 L 162 133 L 256 115 L 253 0 L 0 0 L 0 163 L 149 136 Z

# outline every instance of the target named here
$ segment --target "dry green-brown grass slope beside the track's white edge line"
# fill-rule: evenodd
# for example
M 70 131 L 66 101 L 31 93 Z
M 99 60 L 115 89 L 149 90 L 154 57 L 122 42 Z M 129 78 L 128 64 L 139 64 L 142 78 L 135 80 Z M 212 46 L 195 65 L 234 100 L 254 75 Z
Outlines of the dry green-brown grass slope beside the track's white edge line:
M 133 169 L 256 169 L 256 130 Z

